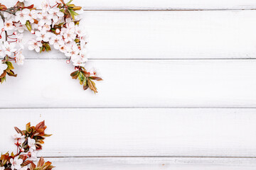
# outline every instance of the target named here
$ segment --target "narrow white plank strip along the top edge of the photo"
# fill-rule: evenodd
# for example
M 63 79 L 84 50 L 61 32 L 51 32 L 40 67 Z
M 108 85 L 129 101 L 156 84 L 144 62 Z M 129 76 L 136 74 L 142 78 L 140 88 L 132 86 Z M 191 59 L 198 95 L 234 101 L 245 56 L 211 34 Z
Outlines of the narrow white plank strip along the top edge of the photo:
M 3 4 L 14 6 L 16 0 L 2 0 Z M 52 0 L 53 1 L 53 0 Z M 73 1 L 74 4 L 83 6 L 86 10 L 182 10 L 182 9 L 253 9 L 256 8 L 254 0 L 83 0 Z M 36 6 L 41 6 L 41 1 L 33 1 Z

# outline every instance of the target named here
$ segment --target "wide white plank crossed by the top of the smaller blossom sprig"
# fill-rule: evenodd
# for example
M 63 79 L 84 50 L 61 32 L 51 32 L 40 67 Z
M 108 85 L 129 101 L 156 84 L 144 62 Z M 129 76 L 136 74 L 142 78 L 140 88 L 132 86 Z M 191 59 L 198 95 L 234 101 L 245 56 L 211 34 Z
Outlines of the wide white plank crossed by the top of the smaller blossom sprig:
M 46 120 L 38 156 L 256 157 L 256 109 L 0 109 L 0 152 L 14 126 Z

